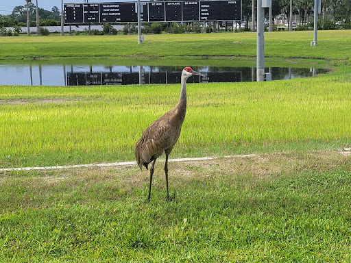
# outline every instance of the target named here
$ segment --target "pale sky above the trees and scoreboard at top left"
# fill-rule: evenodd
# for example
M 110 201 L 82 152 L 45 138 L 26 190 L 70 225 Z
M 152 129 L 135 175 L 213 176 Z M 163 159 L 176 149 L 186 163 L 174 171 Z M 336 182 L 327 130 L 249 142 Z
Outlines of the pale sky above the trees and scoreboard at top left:
M 89 3 L 101 3 L 101 2 L 128 2 L 128 0 L 88 0 Z M 131 0 L 129 0 L 131 1 Z M 134 0 L 136 1 L 136 0 Z M 32 0 L 34 5 L 36 0 Z M 64 3 L 84 3 L 84 0 L 64 0 Z M 0 0 L 0 14 L 11 14 L 15 6 L 25 5 L 25 0 Z M 61 10 L 61 0 L 38 0 L 38 7 L 44 8 L 45 10 L 51 11 L 51 9 L 57 6 Z

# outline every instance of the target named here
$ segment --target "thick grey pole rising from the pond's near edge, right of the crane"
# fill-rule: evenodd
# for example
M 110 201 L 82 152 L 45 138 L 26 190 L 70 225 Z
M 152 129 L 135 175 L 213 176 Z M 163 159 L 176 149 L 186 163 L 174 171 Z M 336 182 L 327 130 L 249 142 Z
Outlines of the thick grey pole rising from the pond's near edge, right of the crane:
M 265 9 L 262 0 L 257 0 L 257 82 L 263 82 L 265 75 Z

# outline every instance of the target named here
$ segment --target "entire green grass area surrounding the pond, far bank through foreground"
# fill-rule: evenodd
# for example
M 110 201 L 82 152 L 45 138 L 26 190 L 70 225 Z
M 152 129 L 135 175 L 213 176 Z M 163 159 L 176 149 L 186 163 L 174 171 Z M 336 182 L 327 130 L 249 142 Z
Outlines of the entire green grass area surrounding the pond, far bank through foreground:
M 188 84 L 171 158 L 152 201 L 137 166 L 0 172 L 0 262 L 350 262 L 351 31 L 265 34 L 267 63 L 330 74 Z M 256 35 L 0 38 L 0 59 L 253 62 Z M 132 57 L 132 58 L 131 58 Z M 184 64 L 189 63 L 189 64 Z M 177 103 L 180 84 L 0 86 L 0 168 L 134 160 L 134 145 Z

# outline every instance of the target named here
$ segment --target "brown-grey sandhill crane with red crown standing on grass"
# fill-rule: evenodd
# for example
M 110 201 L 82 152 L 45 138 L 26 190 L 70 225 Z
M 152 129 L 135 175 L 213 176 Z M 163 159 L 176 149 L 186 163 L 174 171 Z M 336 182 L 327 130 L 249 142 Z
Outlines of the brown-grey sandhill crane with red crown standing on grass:
M 203 74 L 193 71 L 189 66 L 186 66 L 182 71 L 182 90 L 180 91 L 180 99 L 177 105 L 173 109 L 166 112 L 164 115 L 160 116 L 152 125 L 145 129 L 143 135 L 136 143 L 135 147 L 135 158 L 138 166 L 143 170 L 143 166 L 147 168 L 148 164 L 152 162 L 150 168 L 150 184 L 149 184 L 149 197 L 151 196 L 151 185 L 152 185 L 152 175 L 154 174 L 154 166 L 156 159 L 162 155 L 165 151 L 166 153 L 166 163 L 165 163 L 165 174 L 166 174 L 166 188 L 167 197 L 166 200 L 169 201 L 168 193 L 168 155 L 171 153 L 175 142 L 177 142 L 180 136 L 180 129 L 182 129 L 182 124 L 186 113 L 186 79 L 192 75 L 199 75 L 204 77 Z

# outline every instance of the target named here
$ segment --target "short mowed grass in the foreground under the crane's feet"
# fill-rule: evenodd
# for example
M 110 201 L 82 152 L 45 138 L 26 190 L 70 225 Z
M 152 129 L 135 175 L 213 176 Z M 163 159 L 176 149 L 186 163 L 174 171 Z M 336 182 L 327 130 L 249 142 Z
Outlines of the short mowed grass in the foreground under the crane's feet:
M 335 151 L 14 172 L 1 262 L 350 262 L 351 157 Z

